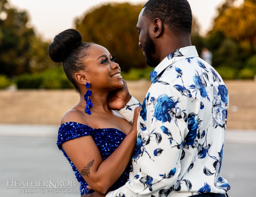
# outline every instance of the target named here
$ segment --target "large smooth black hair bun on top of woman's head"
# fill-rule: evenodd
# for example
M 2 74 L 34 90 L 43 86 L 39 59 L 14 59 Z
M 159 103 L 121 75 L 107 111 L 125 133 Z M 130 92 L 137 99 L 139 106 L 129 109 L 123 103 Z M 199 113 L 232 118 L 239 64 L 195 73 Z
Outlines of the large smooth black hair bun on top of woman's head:
M 63 62 L 72 49 L 81 43 L 81 33 L 75 29 L 65 30 L 54 37 L 49 46 L 49 56 L 54 62 Z

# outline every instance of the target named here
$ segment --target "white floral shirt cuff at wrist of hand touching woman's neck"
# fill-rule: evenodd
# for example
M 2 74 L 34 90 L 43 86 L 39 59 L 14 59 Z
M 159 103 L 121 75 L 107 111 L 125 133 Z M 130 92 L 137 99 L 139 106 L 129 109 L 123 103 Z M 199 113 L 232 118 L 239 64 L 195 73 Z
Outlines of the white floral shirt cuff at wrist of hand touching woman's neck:
M 118 113 L 121 114 L 128 122 L 132 124 L 134 109 L 140 106 L 141 103 L 134 97 L 131 97 L 129 102 L 122 109 L 120 109 Z

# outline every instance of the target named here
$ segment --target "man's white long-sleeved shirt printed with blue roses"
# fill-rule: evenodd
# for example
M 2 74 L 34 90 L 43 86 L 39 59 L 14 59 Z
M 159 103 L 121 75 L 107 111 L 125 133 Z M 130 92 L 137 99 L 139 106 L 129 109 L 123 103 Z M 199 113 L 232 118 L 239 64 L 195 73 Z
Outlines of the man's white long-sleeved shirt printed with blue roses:
M 219 175 L 229 103 L 222 78 L 194 46 L 168 55 L 150 78 L 130 180 L 107 197 L 226 193 L 230 186 Z M 119 113 L 131 122 L 139 105 L 132 98 Z

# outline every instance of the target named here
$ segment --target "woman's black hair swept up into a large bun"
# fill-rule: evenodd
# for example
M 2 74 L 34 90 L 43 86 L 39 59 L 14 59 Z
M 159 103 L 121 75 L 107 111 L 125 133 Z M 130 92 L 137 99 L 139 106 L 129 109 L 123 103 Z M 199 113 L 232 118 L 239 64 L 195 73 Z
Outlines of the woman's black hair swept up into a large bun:
M 64 72 L 77 92 L 79 87 L 74 79 L 74 73 L 85 70 L 84 60 L 91 45 L 92 43 L 82 42 L 82 35 L 77 30 L 68 29 L 56 35 L 49 46 L 50 58 L 54 62 L 63 63 Z

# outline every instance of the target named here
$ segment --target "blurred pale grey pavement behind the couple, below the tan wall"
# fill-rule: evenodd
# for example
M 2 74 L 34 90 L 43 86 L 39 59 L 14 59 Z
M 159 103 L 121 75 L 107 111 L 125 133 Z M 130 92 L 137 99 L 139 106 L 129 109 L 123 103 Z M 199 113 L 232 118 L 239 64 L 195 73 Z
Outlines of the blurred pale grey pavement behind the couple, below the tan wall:
M 56 125 L 0 124 L 0 196 L 80 196 L 56 146 L 57 131 Z M 227 130 L 220 174 L 231 185 L 230 197 L 255 197 L 255 149 L 256 130 Z

